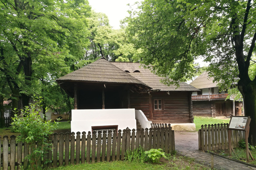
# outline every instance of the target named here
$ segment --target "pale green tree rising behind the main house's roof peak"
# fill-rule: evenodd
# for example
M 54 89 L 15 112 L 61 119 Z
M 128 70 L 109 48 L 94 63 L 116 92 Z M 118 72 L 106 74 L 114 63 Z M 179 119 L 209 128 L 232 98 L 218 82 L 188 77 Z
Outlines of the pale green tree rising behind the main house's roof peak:
M 106 57 L 109 61 L 115 61 L 121 57 L 125 61 L 131 61 L 132 56 L 137 54 L 137 50 L 127 39 L 125 30 L 113 29 L 106 14 L 93 11 L 89 18 L 89 30 L 91 45 L 86 51 L 86 60 Z

